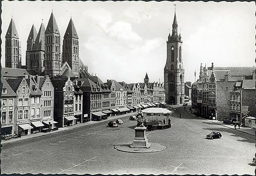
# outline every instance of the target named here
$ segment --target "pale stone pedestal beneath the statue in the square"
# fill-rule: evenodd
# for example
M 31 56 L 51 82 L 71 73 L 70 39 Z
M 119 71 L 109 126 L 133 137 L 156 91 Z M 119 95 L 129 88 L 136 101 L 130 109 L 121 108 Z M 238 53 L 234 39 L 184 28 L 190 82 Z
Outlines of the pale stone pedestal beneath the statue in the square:
M 147 141 L 146 137 L 146 127 L 135 127 L 135 138 L 133 144 L 130 145 L 131 148 L 150 148 L 150 143 Z

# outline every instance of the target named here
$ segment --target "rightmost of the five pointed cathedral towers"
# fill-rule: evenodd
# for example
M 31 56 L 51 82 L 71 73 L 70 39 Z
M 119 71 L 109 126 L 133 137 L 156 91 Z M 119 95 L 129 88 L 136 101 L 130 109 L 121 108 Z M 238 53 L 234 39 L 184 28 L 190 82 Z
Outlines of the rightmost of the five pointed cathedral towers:
M 73 74 L 79 77 L 79 37 L 72 18 L 63 39 L 63 63 L 67 62 Z

